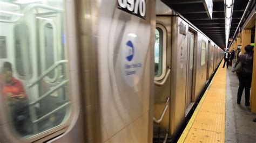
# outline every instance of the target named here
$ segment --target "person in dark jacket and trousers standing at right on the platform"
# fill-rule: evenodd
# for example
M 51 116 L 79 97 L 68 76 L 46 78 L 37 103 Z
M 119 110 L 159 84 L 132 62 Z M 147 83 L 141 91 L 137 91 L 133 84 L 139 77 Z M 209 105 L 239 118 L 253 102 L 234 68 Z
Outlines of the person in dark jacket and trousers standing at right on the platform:
M 245 88 L 245 106 L 250 106 L 250 88 L 252 83 L 252 67 L 253 67 L 253 46 L 245 46 L 245 53 L 238 57 L 238 61 L 241 62 L 242 69 L 238 73 L 239 88 L 237 93 L 237 104 L 240 104 L 242 91 Z

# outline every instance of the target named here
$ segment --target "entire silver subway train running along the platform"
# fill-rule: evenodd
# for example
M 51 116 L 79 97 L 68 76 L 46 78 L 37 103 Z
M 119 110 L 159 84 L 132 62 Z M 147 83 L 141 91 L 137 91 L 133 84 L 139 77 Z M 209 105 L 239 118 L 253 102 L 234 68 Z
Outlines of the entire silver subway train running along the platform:
M 0 142 L 172 141 L 223 58 L 159 0 L 0 5 Z

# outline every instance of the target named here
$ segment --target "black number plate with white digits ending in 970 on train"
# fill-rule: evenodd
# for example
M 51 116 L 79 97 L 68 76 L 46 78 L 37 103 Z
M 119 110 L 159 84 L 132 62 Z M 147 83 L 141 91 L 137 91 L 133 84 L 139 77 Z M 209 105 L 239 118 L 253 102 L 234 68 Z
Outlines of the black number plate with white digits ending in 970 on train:
M 132 15 L 145 19 L 146 0 L 117 0 L 117 8 Z

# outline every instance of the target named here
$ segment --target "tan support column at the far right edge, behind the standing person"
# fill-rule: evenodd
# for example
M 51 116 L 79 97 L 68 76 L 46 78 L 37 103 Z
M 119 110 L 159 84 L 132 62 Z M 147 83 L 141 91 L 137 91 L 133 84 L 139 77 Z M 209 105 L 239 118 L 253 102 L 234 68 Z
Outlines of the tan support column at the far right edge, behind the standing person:
M 254 23 L 256 26 L 256 21 Z M 256 41 L 256 37 L 254 35 L 254 43 L 255 41 Z M 251 109 L 253 113 L 256 113 L 256 48 L 255 48 L 255 45 L 254 45 L 253 57 L 254 58 L 253 58 L 253 71 L 252 71 Z

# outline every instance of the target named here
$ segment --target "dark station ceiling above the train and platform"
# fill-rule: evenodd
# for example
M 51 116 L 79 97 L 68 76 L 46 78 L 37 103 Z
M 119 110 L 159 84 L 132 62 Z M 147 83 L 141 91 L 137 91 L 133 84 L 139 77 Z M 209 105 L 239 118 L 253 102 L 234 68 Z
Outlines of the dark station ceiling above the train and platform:
M 204 32 L 215 44 L 222 49 L 225 48 L 225 0 L 212 0 L 212 19 L 207 15 L 203 0 L 162 0 L 170 8 L 178 11 L 192 24 Z M 234 0 L 230 38 L 245 11 L 248 0 Z

